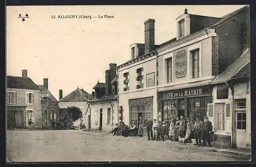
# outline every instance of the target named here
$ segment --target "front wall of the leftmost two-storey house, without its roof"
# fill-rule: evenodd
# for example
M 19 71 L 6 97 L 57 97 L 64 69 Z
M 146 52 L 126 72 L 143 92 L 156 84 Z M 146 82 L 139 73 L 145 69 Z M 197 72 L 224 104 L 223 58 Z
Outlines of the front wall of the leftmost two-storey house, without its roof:
M 13 104 L 13 105 L 25 105 L 25 106 L 27 106 L 26 107 L 26 117 L 27 117 L 27 110 L 33 110 L 34 127 L 42 127 L 41 91 L 26 90 L 26 89 L 11 89 L 11 88 L 7 88 L 7 91 L 14 91 L 14 92 L 18 93 L 18 103 Z M 34 98 L 35 98 L 35 103 L 34 104 L 26 104 L 26 98 L 25 98 L 26 97 L 26 92 L 31 92 L 31 93 L 34 94 Z M 28 126 L 28 120 L 27 119 L 26 119 L 26 126 Z

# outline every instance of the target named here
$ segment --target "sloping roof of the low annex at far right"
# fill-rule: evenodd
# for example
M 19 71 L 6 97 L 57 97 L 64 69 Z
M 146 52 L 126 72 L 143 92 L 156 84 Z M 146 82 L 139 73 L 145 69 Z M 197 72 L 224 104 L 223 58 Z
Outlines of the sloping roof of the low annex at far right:
M 228 81 L 237 74 L 240 75 L 246 68 L 248 68 L 248 66 L 245 66 L 250 64 L 249 62 L 250 50 L 247 50 L 236 61 L 234 61 L 230 66 L 228 66 L 221 74 L 219 74 L 214 80 L 212 80 L 212 84 L 222 83 Z

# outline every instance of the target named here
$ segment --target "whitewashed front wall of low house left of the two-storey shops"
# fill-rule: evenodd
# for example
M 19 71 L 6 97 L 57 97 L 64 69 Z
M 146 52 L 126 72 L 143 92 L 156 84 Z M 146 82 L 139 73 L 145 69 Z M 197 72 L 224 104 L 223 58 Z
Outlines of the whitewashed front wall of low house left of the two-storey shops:
M 118 123 L 118 109 L 117 109 L 117 101 L 113 101 L 113 122 L 112 122 L 112 107 L 110 101 L 100 101 L 100 102 L 92 102 L 91 107 L 91 130 L 98 130 L 99 128 L 99 119 L 100 119 L 100 108 L 102 108 L 102 130 L 103 131 L 111 131 L 112 123 Z M 111 117 L 110 124 L 107 125 L 108 121 L 108 108 L 111 108 Z

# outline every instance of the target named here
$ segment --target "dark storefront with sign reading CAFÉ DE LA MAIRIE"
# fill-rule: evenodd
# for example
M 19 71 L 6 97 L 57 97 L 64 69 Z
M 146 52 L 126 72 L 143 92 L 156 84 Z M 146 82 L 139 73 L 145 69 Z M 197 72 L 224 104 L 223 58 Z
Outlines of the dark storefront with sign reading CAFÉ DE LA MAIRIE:
M 158 120 L 169 122 L 171 116 L 203 120 L 211 102 L 210 86 L 158 92 Z

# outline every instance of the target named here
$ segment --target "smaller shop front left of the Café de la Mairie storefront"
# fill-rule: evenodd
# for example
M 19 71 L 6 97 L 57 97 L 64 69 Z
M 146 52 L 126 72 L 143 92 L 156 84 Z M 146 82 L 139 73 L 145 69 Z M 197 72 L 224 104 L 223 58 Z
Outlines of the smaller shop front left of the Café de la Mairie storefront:
M 140 99 L 130 99 L 130 125 L 135 122 L 135 125 L 139 124 L 139 120 L 142 120 L 143 134 L 146 134 L 146 122 L 147 117 L 153 119 L 153 97 L 146 97 Z

